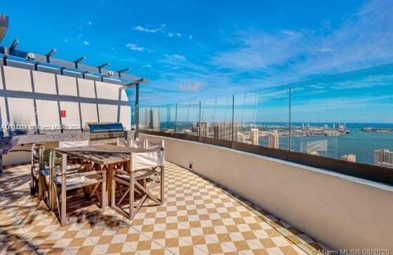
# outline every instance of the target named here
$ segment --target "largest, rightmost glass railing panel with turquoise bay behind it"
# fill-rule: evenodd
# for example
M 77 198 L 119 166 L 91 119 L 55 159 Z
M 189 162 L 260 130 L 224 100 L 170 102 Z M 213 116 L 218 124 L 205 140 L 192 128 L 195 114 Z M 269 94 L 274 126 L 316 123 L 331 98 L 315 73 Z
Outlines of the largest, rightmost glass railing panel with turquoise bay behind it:
M 291 150 L 393 167 L 393 65 L 291 86 Z

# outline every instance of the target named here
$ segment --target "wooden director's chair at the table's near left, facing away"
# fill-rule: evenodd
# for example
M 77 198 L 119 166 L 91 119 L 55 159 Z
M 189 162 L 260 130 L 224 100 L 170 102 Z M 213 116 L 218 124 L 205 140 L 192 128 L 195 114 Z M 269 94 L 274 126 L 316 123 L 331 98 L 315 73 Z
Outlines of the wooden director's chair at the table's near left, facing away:
M 54 151 L 51 153 L 51 160 L 55 160 L 58 153 Z M 55 205 L 58 208 L 58 218 L 60 220 L 60 224 L 65 226 L 69 223 L 72 223 L 72 220 L 67 219 L 67 191 L 76 190 L 79 188 L 89 187 L 85 189 L 88 191 L 87 197 L 90 199 L 92 195 L 97 195 L 98 202 L 100 203 L 100 207 L 104 209 L 107 205 L 106 201 L 106 171 L 105 170 L 87 170 L 80 168 L 78 169 L 69 169 L 67 167 L 67 154 L 61 154 L 61 167 L 60 171 L 56 170 L 56 166 L 52 161 L 52 194 L 55 195 Z M 99 194 L 99 187 L 101 186 L 101 195 Z M 86 193 L 85 193 L 86 197 Z M 76 201 L 78 202 L 78 201 Z M 99 210 L 98 212 L 102 211 Z M 98 213 L 91 212 L 88 214 L 83 214 L 78 217 L 79 219 L 86 218 L 92 214 Z

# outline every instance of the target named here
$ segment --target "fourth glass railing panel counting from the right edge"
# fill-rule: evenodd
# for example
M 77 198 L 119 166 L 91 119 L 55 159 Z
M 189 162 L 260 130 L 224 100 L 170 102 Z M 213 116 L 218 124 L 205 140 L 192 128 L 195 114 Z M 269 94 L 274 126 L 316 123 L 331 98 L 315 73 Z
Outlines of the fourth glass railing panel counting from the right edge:
M 177 132 L 188 135 L 198 135 L 199 101 L 178 104 L 177 109 Z

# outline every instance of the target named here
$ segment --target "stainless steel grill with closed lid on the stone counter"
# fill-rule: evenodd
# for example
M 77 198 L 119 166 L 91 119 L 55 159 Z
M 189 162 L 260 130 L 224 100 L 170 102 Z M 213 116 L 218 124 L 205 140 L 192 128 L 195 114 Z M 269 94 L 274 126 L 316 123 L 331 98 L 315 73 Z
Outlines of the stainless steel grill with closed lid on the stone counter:
M 127 136 L 121 123 L 86 123 L 84 131 L 90 132 L 90 139 L 93 141 Z

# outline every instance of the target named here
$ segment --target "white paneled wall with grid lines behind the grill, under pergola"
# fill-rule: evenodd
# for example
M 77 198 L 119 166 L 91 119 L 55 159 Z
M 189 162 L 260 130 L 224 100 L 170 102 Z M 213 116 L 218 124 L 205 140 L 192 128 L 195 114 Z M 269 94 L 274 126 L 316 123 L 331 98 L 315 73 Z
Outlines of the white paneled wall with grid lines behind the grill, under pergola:
M 125 90 L 121 90 L 119 101 L 119 85 L 42 71 L 31 73 L 28 69 L 18 67 L 1 68 L 4 69 L 6 86 L 4 88 L 0 72 L 0 124 L 11 122 L 83 127 L 86 122 L 98 120 L 114 122 L 120 116 L 119 121 L 124 127 L 131 128 L 131 106 L 128 105 Z M 66 117 L 60 118 L 62 110 L 66 111 Z

